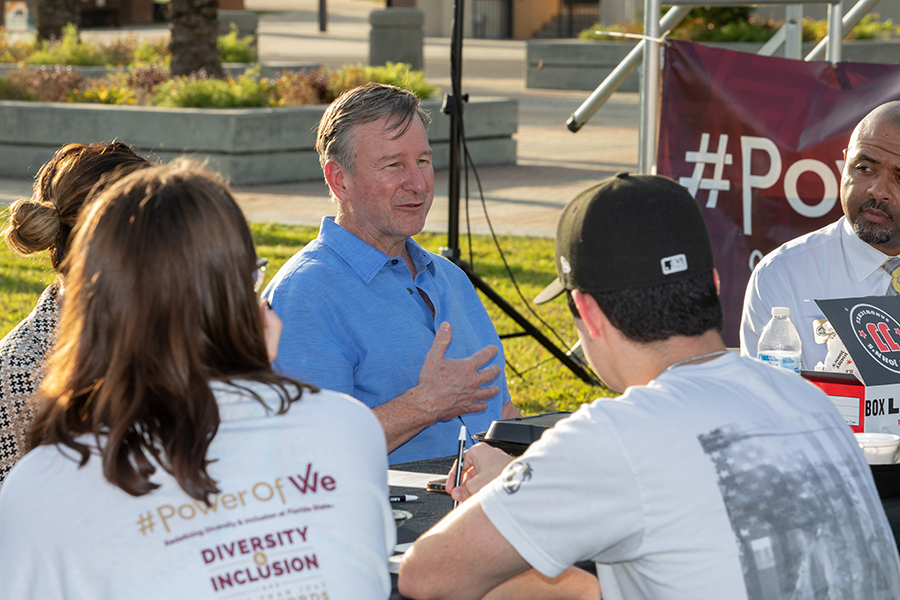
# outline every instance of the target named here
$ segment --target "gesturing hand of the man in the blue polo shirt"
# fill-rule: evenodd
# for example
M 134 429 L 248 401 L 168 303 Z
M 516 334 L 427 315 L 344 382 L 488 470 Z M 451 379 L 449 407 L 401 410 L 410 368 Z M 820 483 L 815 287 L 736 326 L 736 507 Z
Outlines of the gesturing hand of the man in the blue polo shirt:
M 481 412 L 487 408 L 485 401 L 500 392 L 496 385 L 484 386 L 500 374 L 500 367 L 482 369 L 497 354 L 497 347 L 486 346 L 469 358 L 447 358 L 444 353 L 452 337 L 450 323 L 441 323 L 419 372 L 417 387 L 435 421 Z

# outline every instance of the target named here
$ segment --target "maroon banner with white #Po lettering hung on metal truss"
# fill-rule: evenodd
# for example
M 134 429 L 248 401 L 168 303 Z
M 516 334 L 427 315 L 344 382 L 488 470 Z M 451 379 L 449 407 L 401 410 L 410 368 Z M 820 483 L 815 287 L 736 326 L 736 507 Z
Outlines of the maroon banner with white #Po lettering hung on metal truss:
M 900 99 L 900 65 L 804 62 L 670 41 L 657 172 L 700 205 L 738 345 L 750 271 L 840 218 L 843 150 L 859 120 Z

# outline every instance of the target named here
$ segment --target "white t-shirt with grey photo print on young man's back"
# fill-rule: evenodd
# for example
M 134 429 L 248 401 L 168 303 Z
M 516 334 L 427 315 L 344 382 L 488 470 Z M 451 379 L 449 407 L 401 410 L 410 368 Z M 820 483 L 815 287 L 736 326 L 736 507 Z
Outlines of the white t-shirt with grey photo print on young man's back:
M 545 575 L 595 561 L 604 600 L 900 598 L 850 429 L 802 378 L 735 354 L 583 406 L 475 498 Z

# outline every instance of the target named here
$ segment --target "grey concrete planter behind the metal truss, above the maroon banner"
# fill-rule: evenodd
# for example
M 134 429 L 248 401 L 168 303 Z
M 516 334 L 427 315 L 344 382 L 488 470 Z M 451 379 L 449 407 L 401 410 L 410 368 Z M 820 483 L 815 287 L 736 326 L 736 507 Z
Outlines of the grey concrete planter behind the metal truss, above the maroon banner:
M 635 46 L 631 42 L 586 40 L 530 40 L 527 43 L 525 87 L 552 90 L 593 91 Z M 762 44 L 710 44 L 718 48 L 756 52 Z M 803 45 L 803 55 L 812 50 Z M 900 40 L 844 42 L 841 55 L 847 62 L 900 62 Z M 640 67 L 625 80 L 620 92 L 637 92 Z

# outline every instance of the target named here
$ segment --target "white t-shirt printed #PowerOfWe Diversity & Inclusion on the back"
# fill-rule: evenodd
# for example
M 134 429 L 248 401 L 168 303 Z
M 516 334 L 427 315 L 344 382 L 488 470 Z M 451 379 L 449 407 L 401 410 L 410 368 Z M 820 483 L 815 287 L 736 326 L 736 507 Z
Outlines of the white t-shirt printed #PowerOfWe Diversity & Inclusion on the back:
M 396 529 L 377 419 L 325 390 L 276 415 L 274 390 L 249 386 L 273 411 L 214 384 L 211 507 L 161 469 L 159 489 L 132 497 L 95 456 L 79 469 L 55 446 L 27 454 L 0 492 L 0 598 L 387 598 Z

